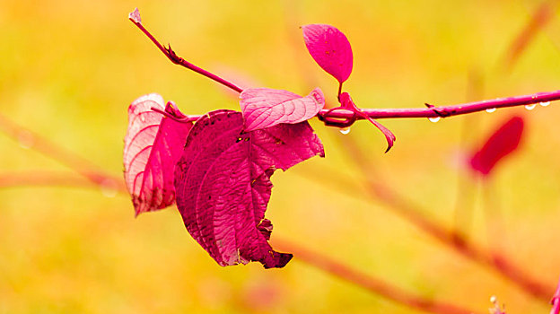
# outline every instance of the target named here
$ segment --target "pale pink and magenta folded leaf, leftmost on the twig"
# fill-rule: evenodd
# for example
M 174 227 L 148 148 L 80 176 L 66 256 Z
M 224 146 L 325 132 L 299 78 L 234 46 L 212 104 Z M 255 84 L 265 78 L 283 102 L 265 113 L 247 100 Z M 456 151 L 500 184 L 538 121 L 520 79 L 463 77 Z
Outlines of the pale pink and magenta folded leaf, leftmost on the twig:
M 173 175 L 192 122 L 177 122 L 153 109 L 163 110 L 158 94 L 142 96 L 128 108 L 125 136 L 125 181 L 136 215 L 162 209 L 175 202 Z M 183 118 L 171 101 L 165 112 Z

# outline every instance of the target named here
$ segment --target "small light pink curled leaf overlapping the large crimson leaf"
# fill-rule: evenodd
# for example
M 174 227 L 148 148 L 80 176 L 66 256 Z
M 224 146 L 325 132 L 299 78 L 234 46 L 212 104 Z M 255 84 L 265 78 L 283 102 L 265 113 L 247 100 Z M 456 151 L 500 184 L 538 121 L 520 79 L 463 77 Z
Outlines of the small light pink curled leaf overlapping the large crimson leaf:
M 319 88 L 305 97 L 282 90 L 249 88 L 241 92 L 240 99 L 245 131 L 299 123 L 315 117 L 325 107 L 325 96 Z

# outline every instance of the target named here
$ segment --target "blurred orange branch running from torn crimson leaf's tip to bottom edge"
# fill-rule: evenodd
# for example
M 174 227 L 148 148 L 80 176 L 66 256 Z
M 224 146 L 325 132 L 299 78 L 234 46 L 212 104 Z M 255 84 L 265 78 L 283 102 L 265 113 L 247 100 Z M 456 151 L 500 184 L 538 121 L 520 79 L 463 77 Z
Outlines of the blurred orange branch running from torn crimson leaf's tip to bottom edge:
M 324 256 L 318 252 L 305 249 L 287 240 L 275 240 L 275 246 L 293 252 L 293 256 L 303 263 L 322 269 L 329 275 L 337 277 L 358 286 L 381 297 L 404 304 L 407 307 L 424 312 L 438 314 L 470 314 L 472 310 L 460 308 L 457 305 L 426 299 L 420 295 L 404 291 L 391 283 L 387 283 L 379 278 L 367 275 L 362 271 L 338 262 L 337 260 Z

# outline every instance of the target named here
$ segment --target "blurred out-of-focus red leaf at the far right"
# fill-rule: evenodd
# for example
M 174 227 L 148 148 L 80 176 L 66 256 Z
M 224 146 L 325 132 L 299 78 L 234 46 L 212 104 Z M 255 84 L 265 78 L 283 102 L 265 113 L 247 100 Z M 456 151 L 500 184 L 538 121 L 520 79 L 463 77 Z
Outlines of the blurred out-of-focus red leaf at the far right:
M 513 117 L 500 126 L 470 159 L 472 170 L 488 175 L 496 163 L 515 151 L 523 134 L 523 118 Z

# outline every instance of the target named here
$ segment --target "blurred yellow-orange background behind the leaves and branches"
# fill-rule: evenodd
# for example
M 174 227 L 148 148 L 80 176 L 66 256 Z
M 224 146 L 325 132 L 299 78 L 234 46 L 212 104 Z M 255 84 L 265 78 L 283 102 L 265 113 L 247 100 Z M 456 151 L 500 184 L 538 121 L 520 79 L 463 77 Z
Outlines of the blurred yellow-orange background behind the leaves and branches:
M 329 23 L 346 33 L 354 72 L 345 90 L 363 108 L 553 91 L 560 89 L 556 11 L 512 69 L 503 70 L 512 40 L 538 4 L 2 0 L 0 113 L 122 178 L 127 105 L 138 96 L 158 92 L 186 114 L 238 109 L 216 83 L 163 57 L 127 20 L 136 6 L 154 36 L 196 65 L 233 81 L 247 77 L 300 94 L 319 86 L 330 102 L 337 83 L 305 51 L 303 24 Z M 524 115 L 527 133 L 521 151 L 489 182 L 488 205 L 473 193 L 475 185 L 458 160 L 513 114 Z M 554 287 L 560 275 L 558 118 L 560 107 L 553 103 L 435 124 L 382 121 L 398 138 L 387 154 L 383 136 L 367 123 L 340 135 L 314 119 L 327 158 L 273 177 L 267 211 L 275 226 L 273 247 L 275 238 L 293 240 L 477 313 L 487 312 L 492 295 L 511 313 L 547 312 L 546 302 L 459 257 L 363 190 L 352 191 L 344 178 L 360 183 L 374 174 L 359 170 L 340 141 L 351 137 L 361 144 L 381 179 L 447 227 L 453 226 L 460 193 L 462 201 L 474 204 L 466 205 L 473 213 L 471 238 L 483 247 L 500 247 Z M 27 148 L 33 144 L 0 135 L 0 180 L 13 171 L 73 174 Z M 488 231 L 485 207 L 499 213 L 498 235 Z M 222 268 L 190 238 L 174 207 L 135 219 L 128 196 L 101 188 L 0 188 L 0 217 L 0 313 L 419 312 L 297 256 L 284 269 L 265 270 L 257 263 Z

